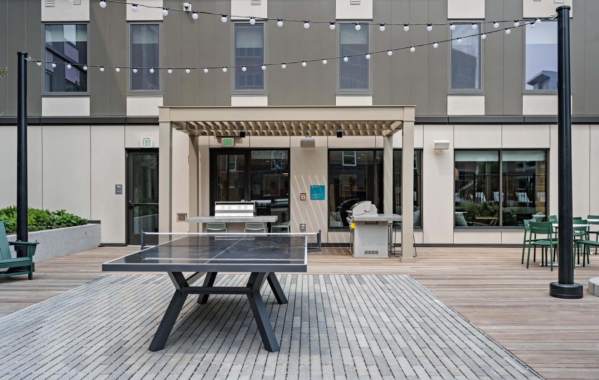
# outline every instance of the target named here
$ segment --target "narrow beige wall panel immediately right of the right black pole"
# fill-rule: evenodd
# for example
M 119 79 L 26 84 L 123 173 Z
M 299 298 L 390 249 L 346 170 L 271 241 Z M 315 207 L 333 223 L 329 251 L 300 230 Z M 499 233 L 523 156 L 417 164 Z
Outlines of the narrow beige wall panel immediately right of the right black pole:
M 572 215 L 586 218 L 590 198 L 590 129 L 588 125 L 572 125 Z M 597 161 L 594 162 L 597 165 Z M 597 190 L 597 189 L 595 189 Z

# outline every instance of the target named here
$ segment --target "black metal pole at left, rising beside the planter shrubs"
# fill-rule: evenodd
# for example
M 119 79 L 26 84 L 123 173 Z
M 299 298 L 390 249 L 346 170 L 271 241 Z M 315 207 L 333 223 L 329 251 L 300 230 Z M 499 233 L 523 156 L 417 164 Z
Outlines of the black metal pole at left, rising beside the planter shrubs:
M 27 223 L 27 58 L 17 51 L 17 240 L 28 241 Z M 17 252 L 26 257 L 27 248 Z

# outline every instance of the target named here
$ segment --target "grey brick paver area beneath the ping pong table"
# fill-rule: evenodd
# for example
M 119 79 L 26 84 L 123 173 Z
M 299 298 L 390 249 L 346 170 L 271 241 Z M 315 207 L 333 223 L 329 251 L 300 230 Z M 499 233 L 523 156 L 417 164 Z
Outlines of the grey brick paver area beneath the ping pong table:
M 2 379 L 540 379 L 406 275 L 279 275 L 264 299 L 279 352 L 245 296 L 187 297 L 165 349 L 148 351 L 173 285 L 107 275 L 0 317 Z M 244 285 L 219 275 L 215 285 Z

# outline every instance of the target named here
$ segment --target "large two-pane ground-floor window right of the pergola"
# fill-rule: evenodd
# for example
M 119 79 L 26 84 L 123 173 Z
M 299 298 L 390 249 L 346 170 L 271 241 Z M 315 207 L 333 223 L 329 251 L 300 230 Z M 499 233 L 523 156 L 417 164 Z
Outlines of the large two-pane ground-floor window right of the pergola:
M 455 227 L 542 221 L 546 199 L 546 151 L 455 151 Z

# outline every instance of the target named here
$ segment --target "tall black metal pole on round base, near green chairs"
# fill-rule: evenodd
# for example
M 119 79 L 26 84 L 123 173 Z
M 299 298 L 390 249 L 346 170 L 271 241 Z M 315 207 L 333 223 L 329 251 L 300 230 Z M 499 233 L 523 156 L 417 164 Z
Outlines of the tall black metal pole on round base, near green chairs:
M 572 251 L 572 110 L 570 104 L 570 7 L 556 8 L 558 17 L 558 281 L 549 294 L 582 298 L 582 285 L 574 282 Z

